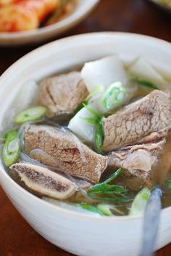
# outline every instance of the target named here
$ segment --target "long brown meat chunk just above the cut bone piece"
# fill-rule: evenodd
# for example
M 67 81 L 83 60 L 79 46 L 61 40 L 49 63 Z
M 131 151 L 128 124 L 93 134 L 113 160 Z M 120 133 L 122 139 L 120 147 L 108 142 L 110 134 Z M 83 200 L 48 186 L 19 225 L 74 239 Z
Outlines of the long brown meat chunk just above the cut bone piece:
M 43 164 L 59 166 L 70 175 L 98 183 L 107 168 L 107 156 L 95 153 L 73 136 L 56 127 L 28 124 L 25 151 L 32 151 L 33 158 Z

